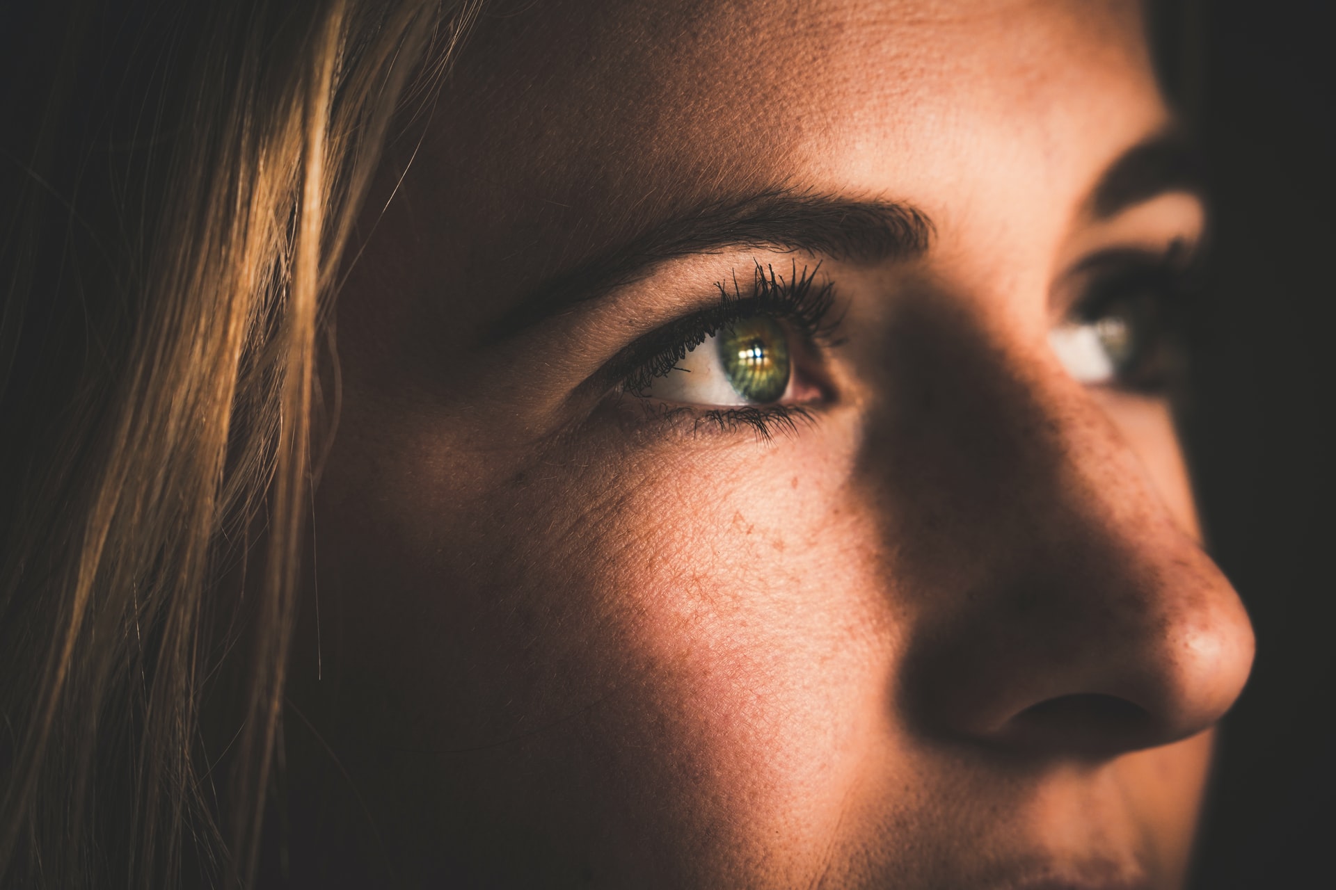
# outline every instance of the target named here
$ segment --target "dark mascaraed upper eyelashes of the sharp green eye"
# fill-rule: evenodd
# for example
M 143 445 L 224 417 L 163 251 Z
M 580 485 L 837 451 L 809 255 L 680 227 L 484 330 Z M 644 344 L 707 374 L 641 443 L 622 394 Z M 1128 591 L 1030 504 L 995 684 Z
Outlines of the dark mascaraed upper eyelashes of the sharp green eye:
M 810 340 L 828 340 L 838 319 L 830 318 L 835 300 L 834 286 L 830 282 L 816 284 L 820 263 L 792 271 L 786 279 L 774 266 L 756 263 L 755 278 L 749 292 L 744 294 L 732 280 L 732 294 L 723 282 L 716 282 L 719 303 L 684 319 L 679 319 L 653 334 L 641 338 L 619 363 L 624 368 L 621 388 L 632 395 L 640 395 L 656 378 L 665 376 L 681 362 L 687 352 L 705 342 L 705 338 L 719 334 L 735 322 L 756 315 L 770 315 L 788 322 Z

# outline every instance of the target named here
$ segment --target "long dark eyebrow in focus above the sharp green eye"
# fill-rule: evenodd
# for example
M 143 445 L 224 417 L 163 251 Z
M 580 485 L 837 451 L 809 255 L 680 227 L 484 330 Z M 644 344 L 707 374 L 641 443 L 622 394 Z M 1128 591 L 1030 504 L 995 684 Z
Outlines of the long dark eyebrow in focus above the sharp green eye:
M 492 339 L 512 336 L 685 256 L 752 248 L 876 263 L 922 256 L 933 236 L 927 215 L 898 201 L 848 200 L 783 187 L 712 200 L 548 279 L 497 322 Z

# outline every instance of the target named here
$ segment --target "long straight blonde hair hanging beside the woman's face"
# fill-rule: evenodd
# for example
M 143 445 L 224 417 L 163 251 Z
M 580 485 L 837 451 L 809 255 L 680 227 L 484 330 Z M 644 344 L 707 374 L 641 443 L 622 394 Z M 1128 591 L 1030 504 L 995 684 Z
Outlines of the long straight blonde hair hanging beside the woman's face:
M 325 303 L 395 111 L 477 5 L 88 3 L 27 32 L 0 156 L 0 883 L 251 881 Z

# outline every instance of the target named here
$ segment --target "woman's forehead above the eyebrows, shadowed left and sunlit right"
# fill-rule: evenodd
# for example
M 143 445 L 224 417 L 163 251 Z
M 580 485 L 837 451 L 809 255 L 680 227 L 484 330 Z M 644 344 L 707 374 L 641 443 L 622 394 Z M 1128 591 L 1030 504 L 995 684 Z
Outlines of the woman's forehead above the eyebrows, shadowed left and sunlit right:
M 501 0 L 407 191 L 508 284 L 774 185 L 1033 235 L 1164 116 L 1129 0 Z

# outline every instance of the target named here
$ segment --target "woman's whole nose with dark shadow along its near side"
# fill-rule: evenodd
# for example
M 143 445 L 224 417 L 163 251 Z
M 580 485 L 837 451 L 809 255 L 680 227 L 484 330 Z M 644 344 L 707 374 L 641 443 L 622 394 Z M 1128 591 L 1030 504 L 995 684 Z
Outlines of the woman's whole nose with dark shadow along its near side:
M 1214 725 L 1253 658 L 1233 587 L 1050 354 L 939 322 L 907 323 L 868 450 L 894 490 L 891 574 L 912 615 L 907 714 L 1073 757 Z

